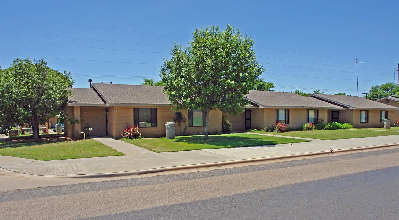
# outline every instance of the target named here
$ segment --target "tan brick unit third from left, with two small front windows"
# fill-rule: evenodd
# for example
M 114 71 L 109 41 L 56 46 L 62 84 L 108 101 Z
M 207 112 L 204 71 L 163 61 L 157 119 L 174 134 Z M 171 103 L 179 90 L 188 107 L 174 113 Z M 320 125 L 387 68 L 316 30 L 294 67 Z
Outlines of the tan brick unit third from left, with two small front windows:
M 378 101 L 348 95 L 311 94 L 312 97 L 344 109 L 328 110 L 327 122 L 350 123 L 355 128 L 384 127 L 384 119 L 391 119 L 391 126 L 397 120 L 398 107 Z

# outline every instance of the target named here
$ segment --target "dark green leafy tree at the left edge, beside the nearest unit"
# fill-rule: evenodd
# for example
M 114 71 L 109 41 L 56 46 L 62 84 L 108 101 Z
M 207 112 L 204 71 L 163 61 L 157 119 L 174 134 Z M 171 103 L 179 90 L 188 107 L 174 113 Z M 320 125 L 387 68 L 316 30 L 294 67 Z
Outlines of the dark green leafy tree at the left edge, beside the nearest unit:
M 15 59 L 0 77 L 0 115 L 2 119 L 32 124 L 35 141 L 39 124 L 62 113 L 61 105 L 72 91 L 71 73 L 51 69 L 44 59 Z M 9 107 L 4 108 L 4 106 Z

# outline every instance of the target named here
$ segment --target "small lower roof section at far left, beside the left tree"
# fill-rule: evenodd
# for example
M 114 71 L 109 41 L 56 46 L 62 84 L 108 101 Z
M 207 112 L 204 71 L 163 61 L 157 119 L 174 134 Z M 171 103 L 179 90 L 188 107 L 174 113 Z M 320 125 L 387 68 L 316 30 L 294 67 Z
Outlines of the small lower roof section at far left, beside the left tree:
M 74 105 L 105 105 L 103 100 L 97 95 L 94 89 L 87 88 L 68 88 L 73 92 L 68 103 Z

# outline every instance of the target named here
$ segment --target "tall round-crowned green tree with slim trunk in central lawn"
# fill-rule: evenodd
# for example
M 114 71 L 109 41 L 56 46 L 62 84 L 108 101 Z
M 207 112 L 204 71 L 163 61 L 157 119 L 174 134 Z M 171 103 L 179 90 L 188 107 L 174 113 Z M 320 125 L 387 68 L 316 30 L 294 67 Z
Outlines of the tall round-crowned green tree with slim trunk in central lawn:
M 171 58 L 164 59 L 164 93 L 176 109 L 206 112 L 205 138 L 212 109 L 238 115 L 249 103 L 245 95 L 264 71 L 253 45 L 251 37 L 229 25 L 223 31 L 218 26 L 197 28 L 188 46 L 175 43 Z

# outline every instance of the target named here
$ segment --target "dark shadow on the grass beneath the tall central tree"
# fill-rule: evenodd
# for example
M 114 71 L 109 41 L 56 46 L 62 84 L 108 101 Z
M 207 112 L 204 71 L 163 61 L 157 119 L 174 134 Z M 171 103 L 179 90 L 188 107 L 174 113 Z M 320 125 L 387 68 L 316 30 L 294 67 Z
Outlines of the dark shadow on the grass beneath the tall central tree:
M 208 145 L 226 146 L 226 147 L 277 145 L 280 143 L 288 143 L 282 140 L 279 141 L 265 140 L 265 137 L 242 137 L 242 136 L 208 136 L 208 137 L 209 138 L 205 140 L 203 136 L 189 136 L 189 137 L 183 136 L 183 137 L 177 137 L 172 141 L 175 143 L 208 144 Z

